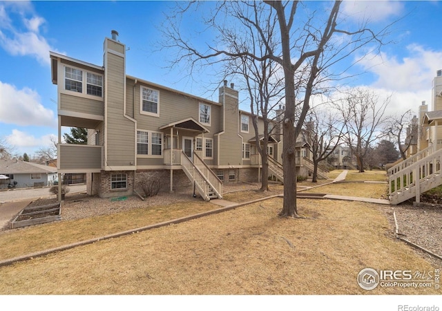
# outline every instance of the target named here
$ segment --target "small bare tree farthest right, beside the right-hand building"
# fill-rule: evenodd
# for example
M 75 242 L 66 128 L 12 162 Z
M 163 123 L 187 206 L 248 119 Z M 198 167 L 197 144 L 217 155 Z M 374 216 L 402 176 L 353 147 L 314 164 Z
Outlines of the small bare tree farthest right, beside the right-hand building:
M 396 140 L 402 160 L 407 158 L 407 150 L 412 144 L 417 144 L 419 121 L 412 111 L 405 111 L 402 115 L 394 115 L 389 118 L 385 131 Z

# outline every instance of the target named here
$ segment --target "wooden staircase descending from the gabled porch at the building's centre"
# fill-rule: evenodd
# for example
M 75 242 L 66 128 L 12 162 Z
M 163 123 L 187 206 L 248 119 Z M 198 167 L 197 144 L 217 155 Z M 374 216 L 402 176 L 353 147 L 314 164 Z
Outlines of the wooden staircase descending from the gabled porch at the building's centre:
M 195 185 L 195 190 L 200 196 L 209 201 L 214 198 L 222 198 L 222 181 L 215 173 L 207 166 L 206 163 L 193 153 L 193 162 L 186 156 L 186 153 L 181 153 L 182 170 L 187 178 Z

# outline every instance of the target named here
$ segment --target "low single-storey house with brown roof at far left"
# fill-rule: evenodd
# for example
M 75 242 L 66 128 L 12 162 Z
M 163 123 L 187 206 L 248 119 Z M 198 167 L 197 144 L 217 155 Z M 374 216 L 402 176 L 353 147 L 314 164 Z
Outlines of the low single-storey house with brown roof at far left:
M 0 160 L 0 174 L 8 176 L 8 185 L 15 185 L 15 188 L 44 187 L 57 179 L 57 168 L 17 159 Z M 2 183 L 1 187 L 8 185 Z

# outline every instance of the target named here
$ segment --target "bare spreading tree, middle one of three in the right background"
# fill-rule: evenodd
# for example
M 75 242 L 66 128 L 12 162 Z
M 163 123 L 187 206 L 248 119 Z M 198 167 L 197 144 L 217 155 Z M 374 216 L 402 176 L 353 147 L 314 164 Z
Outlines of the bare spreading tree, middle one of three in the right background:
M 354 88 L 347 97 L 337 104 L 343 119 L 347 135 L 344 141 L 356 157 L 359 172 L 364 171 L 365 158 L 374 142 L 385 136 L 383 126 L 387 120 L 385 109 L 390 97 L 379 101 L 378 95 L 365 88 Z

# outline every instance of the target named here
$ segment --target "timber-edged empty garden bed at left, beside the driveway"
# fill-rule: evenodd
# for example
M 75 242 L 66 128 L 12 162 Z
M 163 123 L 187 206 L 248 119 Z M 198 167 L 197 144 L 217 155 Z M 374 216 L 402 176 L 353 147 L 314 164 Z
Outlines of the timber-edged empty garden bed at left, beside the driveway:
M 35 207 L 25 207 L 12 220 L 11 229 L 38 225 L 41 223 L 50 223 L 61 220 L 61 208 L 59 203 L 50 205 L 40 205 Z

